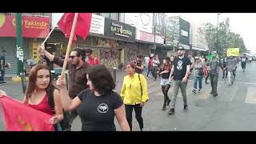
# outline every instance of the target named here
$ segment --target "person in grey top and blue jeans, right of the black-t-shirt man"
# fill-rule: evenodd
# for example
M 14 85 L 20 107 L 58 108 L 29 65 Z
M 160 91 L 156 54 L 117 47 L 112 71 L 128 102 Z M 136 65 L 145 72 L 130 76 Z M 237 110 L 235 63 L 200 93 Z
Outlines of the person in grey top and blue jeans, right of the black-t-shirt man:
M 194 69 L 194 90 L 192 92 L 195 94 L 199 82 L 199 90 L 198 92 L 201 92 L 202 90 L 202 76 L 204 74 L 203 72 L 203 63 L 200 61 L 199 57 L 195 57 L 195 62 L 192 64 L 191 68 Z

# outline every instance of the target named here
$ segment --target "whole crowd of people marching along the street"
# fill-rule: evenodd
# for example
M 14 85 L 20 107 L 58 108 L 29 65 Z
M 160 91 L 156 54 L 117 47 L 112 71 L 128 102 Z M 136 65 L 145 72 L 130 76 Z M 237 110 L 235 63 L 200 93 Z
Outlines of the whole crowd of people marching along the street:
M 99 64 L 98 58 L 92 50 L 74 49 L 70 52 L 66 69 L 68 70 L 68 87 L 66 79 L 59 77 L 54 86 L 50 68 L 46 60 L 63 66 L 64 60 L 50 54 L 45 48 L 38 48 L 40 61 L 30 71 L 29 84 L 26 96 L 22 103 L 46 114 L 52 115 L 50 122 L 56 131 L 69 131 L 74 118 L 79 116 L 82 130 L 114 131 L 114 117 L 118 120 L 121 130 L 132 130 L 132 115 L 138 121 L 140 130 L 144 128 L 142 110 L 149 100 L 146 78 L 150 74 L 154 78 L 161 78 L 160 86 L 163 94 L 162 110 L 170 105 L 167 114 L 174 114 L 178 90 L 181 89 L 184 110 L 188 109 L 186 86 L 188 79 L 193 78 L 193 93 L 202 92 L 202 79 L 210 78 L 211 92 L 218 96 L 219 68 L 222 69 L 222 78 L 228 78 L 229 86 L 234 83 L 238 58 L 219 58 L 215 51 L 211 56 L 185 55 L 185 49 L 178 47 L 177 55 L 162 58 L 159 62 L 157 54 L 146 56 L 138 55 L 137 59 L 126 64 L 127 75 L 123 78 L 120 94 L 114 92 L 115 82 L 110 71 Z M 246 69 L 246 57 L 241 58 L 242 69 Z M 142 74 L 147 70 L 146 77 Z M 171 94 L 168 92 L 172 87 Z M 1 97 L 6 92 L 1 90 Z

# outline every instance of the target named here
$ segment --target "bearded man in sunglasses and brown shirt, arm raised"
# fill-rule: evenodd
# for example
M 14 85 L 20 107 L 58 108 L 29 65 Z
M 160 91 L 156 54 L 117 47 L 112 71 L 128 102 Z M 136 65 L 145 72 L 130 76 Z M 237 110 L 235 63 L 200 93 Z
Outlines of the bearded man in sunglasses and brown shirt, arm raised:
M 46 58 L 49 58 L 51 62 L 58 66 L 63 66 L 64 60 L 50 54 L 45 50 L 45 47 L 39 47 L 38 52 L 44 54 Z M 69 70 L 69 95 L 70 98 L 75 98 L 82 90 L 85 90 L 89 86 L 86 85 L 86 74 L 90 65 L 85 62 L 84 54 L 81 49 L 71 50 L 70 59 L 67 62 L 66 69 Z M 70 127 L 74 118 L 78 116 L 78 110 L 70 111 Z M 81 119 L 81 118 L 80 118 Z

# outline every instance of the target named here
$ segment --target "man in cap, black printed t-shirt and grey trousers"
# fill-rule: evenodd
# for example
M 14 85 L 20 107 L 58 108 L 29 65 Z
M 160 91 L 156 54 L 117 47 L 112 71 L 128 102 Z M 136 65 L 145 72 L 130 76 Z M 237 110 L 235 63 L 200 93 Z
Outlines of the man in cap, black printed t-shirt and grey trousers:
M 187 79 L 190 74 L 190 59 L 185 55 L 185 49 L 183 46 L 178 47 L 178 57 L 174 58 L 174 65 L 170 71 L 169 81 L 171 82 L 174 79 L 174 95 L 171 100 L 170 110 L 168 114 L 174 114 L 175 102 L 178 95 L 178 88 L 181 88 L 182 98 L 184 102 L 184 109 L 187 109 L 186 101 L 186 85 Z

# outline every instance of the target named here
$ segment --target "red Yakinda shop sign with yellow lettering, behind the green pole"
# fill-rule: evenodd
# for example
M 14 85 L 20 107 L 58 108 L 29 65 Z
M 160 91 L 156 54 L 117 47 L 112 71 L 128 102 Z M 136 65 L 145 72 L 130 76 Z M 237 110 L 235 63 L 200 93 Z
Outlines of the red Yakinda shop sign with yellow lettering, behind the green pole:
M 22 15 L 24 38 L 46 38 L 50 31 L 50 18 Z M 14 14 L 0 14 L 0 37 L 16 37 Z

